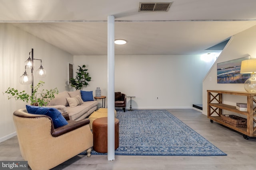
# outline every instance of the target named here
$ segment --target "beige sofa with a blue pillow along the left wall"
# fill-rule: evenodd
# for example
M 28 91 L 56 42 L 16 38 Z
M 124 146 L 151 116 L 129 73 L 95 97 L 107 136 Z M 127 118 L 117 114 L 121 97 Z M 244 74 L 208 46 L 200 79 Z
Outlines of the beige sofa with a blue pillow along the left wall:
M 97 109 L 98 101 L 87 101 L 78 106 L 71 107 L 72 105 L 69 105 L 67 98 L 76 98 L 77 96 L 82 99 L 80 90 L 74 92 L 60 92 L 55 95 L 55 98 L 50 101 L 48 106 L 55 107 L 61 113 L 68 113 L 71 120 L 82 120 Z

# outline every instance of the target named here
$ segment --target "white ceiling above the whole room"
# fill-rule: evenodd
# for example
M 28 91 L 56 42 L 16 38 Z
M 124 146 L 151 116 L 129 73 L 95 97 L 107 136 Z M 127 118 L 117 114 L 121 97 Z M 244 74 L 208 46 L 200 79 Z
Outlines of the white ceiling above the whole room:
M 139 2 L 173 2 L 168 12 L 138 12 Z M 72 55 L 107 54 L 115 17 L 116 55 L 202 54 L 256 25 L 256 0 L 0 0 L 10 22 Z M 33 47 L 32 47 L 33 48 Z M 208 52 L 208 51 L 207 51 Z

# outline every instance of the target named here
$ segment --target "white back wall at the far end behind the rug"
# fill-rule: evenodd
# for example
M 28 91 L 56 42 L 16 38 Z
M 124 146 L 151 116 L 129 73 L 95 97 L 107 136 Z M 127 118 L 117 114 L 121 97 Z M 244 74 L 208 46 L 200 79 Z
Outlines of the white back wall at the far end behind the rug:
M 82 90 L 95 95 L 100 87 L 102 96 L 107 96 L 107 56 L 74 56 L 75 70 L 83 64 L 92 81 Z M 202 103 L 202 80 L 211 66 L 200 55 L 115 56 L 115 91 L 136 96 L 133 108 L 192 108 Z

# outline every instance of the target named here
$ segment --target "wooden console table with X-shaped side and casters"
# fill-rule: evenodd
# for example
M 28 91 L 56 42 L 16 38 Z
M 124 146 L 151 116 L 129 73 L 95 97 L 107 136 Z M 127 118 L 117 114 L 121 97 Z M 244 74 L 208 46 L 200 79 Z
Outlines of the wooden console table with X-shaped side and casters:
M 226 91 L 226 90 L 207 90 L 208 94 L 208 109 L 207 109 L 207 117 L 210 119 L 211 123 L 216 121 L 226 127 L 234 129 L 242 134 L 244 134 L 244 139 L 249 139 L 249 137 L 256 137 L 256 127 L 253 127 L 253 123 L 256 123 L 256 107 L 254 108 L 254 104 L 256 100 L 254 97 L 256 94 L 247 93 L 247 92 L 235 92 L 235 91 Z M 237 95 L 237 96 L 246 96 L 247 97 L 247 111 L 240 111 L 236 109 L 236 106 L 231 106 L 227 104 L 223 104 L 223 94 Z M 221 120 L 220 116 L 222 115 L 222 110 L 228 110 L 235 113 L 239 113 L 242 115 L 246 115 L 247 117 L 247 127 L 235 127 L 228 123 L 225 123 Z M 217 113 L 217 116 L 214 116 L 213 113 Z

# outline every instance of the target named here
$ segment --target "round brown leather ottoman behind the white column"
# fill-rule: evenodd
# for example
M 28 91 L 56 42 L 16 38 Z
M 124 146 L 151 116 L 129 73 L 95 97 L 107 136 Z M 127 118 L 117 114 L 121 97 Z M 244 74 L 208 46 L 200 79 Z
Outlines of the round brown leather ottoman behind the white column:
M 108 152 L 108 117 L 101 117 L 92 123 L 93 149 Z M 115 150 L 119 147 L 119 120 L 115 118 Z

